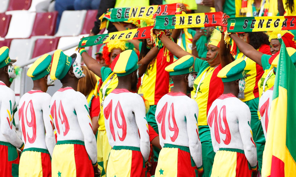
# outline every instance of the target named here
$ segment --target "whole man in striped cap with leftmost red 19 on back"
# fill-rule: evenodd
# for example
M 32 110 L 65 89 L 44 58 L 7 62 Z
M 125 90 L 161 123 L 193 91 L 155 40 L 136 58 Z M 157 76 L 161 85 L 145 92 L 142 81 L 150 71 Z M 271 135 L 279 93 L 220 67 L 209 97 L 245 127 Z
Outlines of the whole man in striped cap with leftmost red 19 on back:
M 51 176 L 51 156 L 56 144 L 53 120 L 49 116 L 52 97 L 46 93 L 47 88 L 54 85 L 49 76 L 51 61 L 51 55 L 44 54 L 27 72 L 33 80 L 33 89 L 25 93 L 19 102 L 20 131 L 25 142 L 20 158 L 20 177 Z M 31 117 L 31 122 L 26 121 L 27 115 Z

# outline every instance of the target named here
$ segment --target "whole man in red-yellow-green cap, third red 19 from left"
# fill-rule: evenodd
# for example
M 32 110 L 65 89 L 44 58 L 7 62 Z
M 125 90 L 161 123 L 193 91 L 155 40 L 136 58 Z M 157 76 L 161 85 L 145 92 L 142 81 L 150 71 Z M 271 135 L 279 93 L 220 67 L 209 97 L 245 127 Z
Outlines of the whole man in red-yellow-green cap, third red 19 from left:
M 147 174 L 147 166 L 151 168 L 145 104 L 140 95 L 133 93 L 137 88 L 140 66 L 133 50 L 123 51 L 111 63 L 118 85 L 106 96 L 103 104 L 106 133 L 112 147 L 107 177 L 142 177 Z

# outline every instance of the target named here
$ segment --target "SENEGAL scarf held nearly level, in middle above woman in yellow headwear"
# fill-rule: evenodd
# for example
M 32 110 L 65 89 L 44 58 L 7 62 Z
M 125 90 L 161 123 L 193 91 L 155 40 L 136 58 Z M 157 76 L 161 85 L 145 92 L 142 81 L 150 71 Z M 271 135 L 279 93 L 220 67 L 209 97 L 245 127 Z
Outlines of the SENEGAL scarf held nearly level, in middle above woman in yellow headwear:
M 181 29 L 192 27 L 223 26 L 222 12 L 158 15 L 154 29 Z

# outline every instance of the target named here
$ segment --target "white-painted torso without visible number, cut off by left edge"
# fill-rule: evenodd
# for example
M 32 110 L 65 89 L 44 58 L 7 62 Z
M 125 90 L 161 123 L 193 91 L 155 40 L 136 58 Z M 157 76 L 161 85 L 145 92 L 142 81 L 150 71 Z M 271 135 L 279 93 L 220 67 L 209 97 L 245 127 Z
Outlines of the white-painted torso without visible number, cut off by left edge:
M 15 111 L 15 92 L 0 81 L 0 141 L 20 148 L 23 142 L 15 131 Z

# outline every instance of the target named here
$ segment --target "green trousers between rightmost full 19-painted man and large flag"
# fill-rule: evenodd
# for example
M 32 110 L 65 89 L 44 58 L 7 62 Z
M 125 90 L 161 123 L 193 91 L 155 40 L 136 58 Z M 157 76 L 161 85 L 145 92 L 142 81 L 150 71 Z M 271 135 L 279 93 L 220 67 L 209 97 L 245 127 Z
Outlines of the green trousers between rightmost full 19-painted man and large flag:
M 254 140 L 255 140 L 256 147 L 257 147 L 258 166 L 259 166 L 259 170 L 261 172 L 262 156 L 263 156 L 263 150 L 264 150 L 264 146 L 265 146 L 265 137 L 264 137 L 263 128 L 262 128 L 262 124 L 261 124 L 260 120 L 259 120 L 258 126 L 257 126 L 256 139 L 254 139 Z

